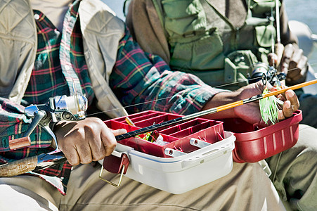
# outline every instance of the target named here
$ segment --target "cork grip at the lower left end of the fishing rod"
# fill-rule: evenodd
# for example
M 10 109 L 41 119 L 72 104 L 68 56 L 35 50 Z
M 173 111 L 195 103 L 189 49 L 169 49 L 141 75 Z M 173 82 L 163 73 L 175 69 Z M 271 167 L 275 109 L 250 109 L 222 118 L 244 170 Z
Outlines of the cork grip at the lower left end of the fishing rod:
M 37 167 L 37 156 L 8 162 L 4 165 L 0 165 L 0 177 L 13 177 L 30 172 L 34 170 L 35 167 Z

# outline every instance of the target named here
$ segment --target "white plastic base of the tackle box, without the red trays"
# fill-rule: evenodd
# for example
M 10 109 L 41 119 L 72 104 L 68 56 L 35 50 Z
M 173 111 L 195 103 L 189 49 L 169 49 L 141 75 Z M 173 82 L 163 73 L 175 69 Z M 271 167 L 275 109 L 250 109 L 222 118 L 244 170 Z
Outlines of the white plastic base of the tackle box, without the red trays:
M 161 158 L 117 144 L 112 155 L 126 153 L 130 163 L 125 177 L 169 193 L 180 194 L 226 176 L 233 167 L 235 136 L 174 158 Z M 124 179 L 122 181 L 124 183 Z

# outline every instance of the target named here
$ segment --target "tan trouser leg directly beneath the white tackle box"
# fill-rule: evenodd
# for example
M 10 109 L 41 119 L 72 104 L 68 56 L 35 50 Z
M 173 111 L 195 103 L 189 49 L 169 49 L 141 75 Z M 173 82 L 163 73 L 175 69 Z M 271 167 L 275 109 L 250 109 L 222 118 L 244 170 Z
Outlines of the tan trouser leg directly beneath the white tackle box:
M 221 179 L 174 195 L 124 177 L 118 188 L 98 178 L 101 166 L 72 172 L 60 210 L 284 210 L 276 189 L 258 163 L 234 163 Z M 198 172 L 199 174 L 199 172 Z M 103 172 L 117 183 L 118 175 Z

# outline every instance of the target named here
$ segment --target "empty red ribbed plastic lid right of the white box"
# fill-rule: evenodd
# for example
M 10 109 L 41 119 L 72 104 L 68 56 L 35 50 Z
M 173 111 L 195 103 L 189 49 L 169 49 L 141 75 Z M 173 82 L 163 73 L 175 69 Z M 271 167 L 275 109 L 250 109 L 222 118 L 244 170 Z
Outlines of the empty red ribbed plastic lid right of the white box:
M 233 161 L 258 162 L 291 148 L 297 143 L 302 111 L 282 122 L 258 128 L 241 119 L 224 120 L 224 130 L 233 132 Z

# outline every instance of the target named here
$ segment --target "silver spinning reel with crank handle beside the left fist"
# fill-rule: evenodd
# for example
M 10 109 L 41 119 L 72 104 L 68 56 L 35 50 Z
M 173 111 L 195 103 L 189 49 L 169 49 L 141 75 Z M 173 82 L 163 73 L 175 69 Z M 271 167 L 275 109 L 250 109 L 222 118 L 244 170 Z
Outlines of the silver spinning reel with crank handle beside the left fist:
M 75 96 L 55 96 L 48 98 L 45 104 L 30 105 L 25 108 L 25 115 L 32 118 L 32 122 L 23 134 L 22 138 L 9 141 L 9 148 L 17 149 L 30 146 L 30 134 L 39 125 L 53 137 L 58 151 L 56 136 L 52 131 L 52 126 L 61 120 L 83 120 L 88 107 L 87 98 L 75 94 Z M 53 124 L 51 124 L 53 122 Z

